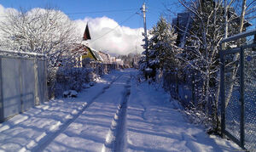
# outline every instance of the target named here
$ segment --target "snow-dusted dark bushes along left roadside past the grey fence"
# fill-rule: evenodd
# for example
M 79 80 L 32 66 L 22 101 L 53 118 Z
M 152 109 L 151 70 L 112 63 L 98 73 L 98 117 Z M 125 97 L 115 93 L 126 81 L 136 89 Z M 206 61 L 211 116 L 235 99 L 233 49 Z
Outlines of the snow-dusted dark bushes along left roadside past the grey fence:
M 60 97 L 67 90 L 81 91 L 93 87 L 97 79 L 116 69 L 115 65 L 93 63 L 86 67 L 71 65 L 51 68 L 48 71 L 49 98 Z

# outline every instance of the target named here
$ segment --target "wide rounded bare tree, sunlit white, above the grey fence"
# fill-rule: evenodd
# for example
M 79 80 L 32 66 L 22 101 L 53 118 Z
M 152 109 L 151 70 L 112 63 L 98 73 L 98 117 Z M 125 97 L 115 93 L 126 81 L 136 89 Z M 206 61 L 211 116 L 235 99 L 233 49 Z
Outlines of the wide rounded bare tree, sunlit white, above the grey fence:
M 68 55 L 78 42 L 76 28 L 66 14 L 53 8 L 10 9 L 0 22 L 1 48 L 45 53 L 50 67 Z

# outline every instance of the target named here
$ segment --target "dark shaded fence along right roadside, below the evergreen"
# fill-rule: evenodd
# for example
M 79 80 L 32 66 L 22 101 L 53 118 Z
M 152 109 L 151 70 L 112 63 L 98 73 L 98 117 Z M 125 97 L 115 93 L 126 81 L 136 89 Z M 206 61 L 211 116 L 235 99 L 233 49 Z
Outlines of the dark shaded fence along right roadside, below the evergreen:
M 186 72 L 184 72 L 187 70 Z M 180 101 L 183 107 L 201 108 L 201 94 L 203 80 L 200 72 L 191 69 L 182 71 L 165 71 L 163 73 L 163 87 L 173 99 Z

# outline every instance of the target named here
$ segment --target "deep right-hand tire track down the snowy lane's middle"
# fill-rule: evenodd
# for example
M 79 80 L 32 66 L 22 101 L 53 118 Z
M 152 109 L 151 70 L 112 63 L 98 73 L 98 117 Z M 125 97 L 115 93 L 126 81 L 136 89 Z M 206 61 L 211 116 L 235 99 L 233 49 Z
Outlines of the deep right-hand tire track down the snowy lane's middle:
M 118 110 L 113 117 L 110 130 L 108 132 L 102 152 L 125 151 L 126 145 L 126 109 L 127 101 L 130 96 L 130 79 L 126 82 L 123 98 L 118 106 Z

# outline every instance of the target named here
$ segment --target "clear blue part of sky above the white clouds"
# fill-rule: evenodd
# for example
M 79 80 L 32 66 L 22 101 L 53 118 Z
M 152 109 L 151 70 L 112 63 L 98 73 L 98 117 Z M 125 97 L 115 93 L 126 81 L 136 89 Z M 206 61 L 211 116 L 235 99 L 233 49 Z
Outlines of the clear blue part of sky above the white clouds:
M 152 28 L 159 19 L 160 14 L 166 11 L 165 5 L 169 5 L 169 8 L 172 9 L 177 8 L 176 6 L 170 5 L 177 3 L 177 0 L 0 0 L 0 4 L 4 8 L 19 9 L 21 7 L 30 9 L 37 7 L 44 8 L 46 5 L 49 5 L 61 9 L 72 20 L 84 19 L 85 17 L 96 18 L 107 16 L 119 24 L 132 14 L 135 14 L 142 7 L 143 2 L 146 2 L 148 7 L 148 28 Z M 123 9 L 126 10 L 118 11 Z M 179 10 L 177 9 L 177 11 Z M 139 14 L 133 15 L 130 20 L 125 21 L 122 25 L 131 28 L 143 27 L 142 16 Z

